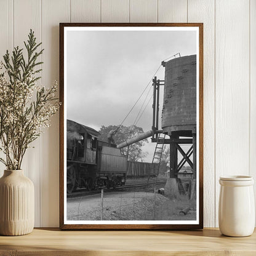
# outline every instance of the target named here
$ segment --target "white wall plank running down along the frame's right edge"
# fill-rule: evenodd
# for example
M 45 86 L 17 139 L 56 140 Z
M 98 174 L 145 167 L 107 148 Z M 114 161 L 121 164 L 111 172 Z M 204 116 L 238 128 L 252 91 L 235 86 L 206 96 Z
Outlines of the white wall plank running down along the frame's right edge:
M 204 226 L 215 226 L 214 2 L 188 1 L 188 22 L 204 23 Z

